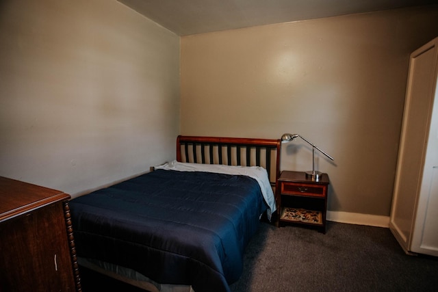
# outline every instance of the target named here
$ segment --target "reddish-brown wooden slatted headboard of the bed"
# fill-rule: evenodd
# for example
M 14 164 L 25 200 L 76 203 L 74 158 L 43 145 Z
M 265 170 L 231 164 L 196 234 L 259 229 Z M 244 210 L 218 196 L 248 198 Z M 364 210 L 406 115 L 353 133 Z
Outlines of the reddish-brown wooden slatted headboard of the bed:
M 280 174 L 280 140 L 181 136 L 177 161 L 190 163 L 261 166 L 275 186 Z

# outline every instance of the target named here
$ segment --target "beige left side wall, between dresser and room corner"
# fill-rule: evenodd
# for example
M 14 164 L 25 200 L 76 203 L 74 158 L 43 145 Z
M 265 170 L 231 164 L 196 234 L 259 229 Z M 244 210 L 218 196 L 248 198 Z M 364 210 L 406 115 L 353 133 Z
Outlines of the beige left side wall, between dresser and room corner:
M 77 196 L 178 133 L 178 36 L 116 0 L 0 2 L 0 176 Z

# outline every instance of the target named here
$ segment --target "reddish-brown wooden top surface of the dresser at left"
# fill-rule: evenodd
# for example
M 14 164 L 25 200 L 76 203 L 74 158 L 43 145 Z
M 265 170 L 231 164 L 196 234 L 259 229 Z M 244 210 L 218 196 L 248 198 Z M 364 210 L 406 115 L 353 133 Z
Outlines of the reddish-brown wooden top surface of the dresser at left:
M 0 222 L 69 198 L 62 191 L 0 176 Z

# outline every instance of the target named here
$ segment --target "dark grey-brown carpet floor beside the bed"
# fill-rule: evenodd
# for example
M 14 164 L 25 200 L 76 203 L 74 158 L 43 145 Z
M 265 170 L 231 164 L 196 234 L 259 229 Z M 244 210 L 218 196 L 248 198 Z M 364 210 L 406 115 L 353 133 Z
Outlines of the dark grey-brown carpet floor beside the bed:
M 388 228 L 262 223 L 231 291 L 438 291 L 438 258 L 404 254 Z

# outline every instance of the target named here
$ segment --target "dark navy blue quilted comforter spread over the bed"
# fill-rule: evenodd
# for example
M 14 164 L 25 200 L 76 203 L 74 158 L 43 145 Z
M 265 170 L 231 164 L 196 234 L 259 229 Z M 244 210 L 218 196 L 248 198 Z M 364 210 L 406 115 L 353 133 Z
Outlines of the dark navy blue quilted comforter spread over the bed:
M 229 291 L 266 210 L 248 176 L 155 170 L 70 200 L 77 255 L 162 284 Z

